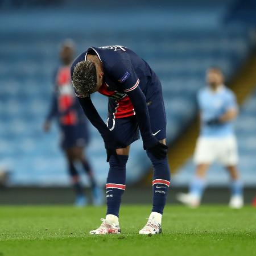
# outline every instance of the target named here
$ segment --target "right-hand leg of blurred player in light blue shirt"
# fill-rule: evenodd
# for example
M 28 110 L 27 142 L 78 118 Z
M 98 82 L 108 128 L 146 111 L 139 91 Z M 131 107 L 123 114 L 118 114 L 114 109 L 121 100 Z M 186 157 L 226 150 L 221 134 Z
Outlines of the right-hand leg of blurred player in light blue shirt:
M 231 208 L 240 209 L 243 207 L 243 184 L 237 166 L 226 166 L 226 170 L 228 170 L 231 179 L 229 206 Z

